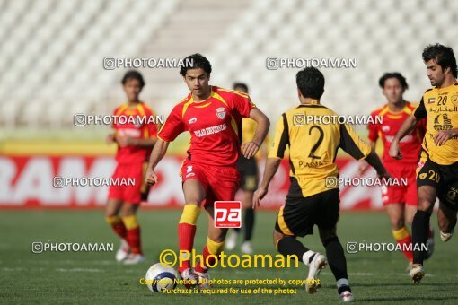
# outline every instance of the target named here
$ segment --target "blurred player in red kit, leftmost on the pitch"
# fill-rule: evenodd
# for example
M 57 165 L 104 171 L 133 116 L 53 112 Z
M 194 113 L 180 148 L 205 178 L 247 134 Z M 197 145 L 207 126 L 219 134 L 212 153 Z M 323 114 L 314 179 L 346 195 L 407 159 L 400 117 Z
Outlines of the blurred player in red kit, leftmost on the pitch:
M 136 213 L 140 202 L 148 194 L 149 188 L 144 183 L 145 165 L 156 142 L 158 128 L 151 124 L 154 121 L 153 111 L 138 99 L 145 85 L 142 74 L 128 71 L 122 85 L 128 102 L 115 109 L 113 114 L 118 119 L 114 119 L 114 134 L 107 137 L 107 143 L 118 144 L 118 164 L 113 180 L 133 179 L 134 185 L 110 186 L 105 218 L 121 238 L 116 260 L 131 265 L 145 260 Z

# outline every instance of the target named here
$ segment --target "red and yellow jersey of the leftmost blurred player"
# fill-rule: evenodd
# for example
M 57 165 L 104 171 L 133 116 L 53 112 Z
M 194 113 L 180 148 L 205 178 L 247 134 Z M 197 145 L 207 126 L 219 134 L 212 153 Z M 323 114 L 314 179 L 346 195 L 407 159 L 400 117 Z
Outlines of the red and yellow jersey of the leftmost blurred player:
M 154 112 L 143 101 L 137 104 L 136 108 L 129 108 L 128 103 L 124 103 L 114 110 L 115 116 L 124 116 L 127 119 L 115 120 L 112 128 L 115 130 L 117 138 L 128 136 L 136 139 L 155 138 L 157 136 L 158 126 L 151 124 L 151 118 L 155 117 Z M 129 117 L 139 117 L 130 118 Z M 148 119 L 150 118 L 150 119 Z M 120 124 L 126 123 L 126 124 Z M 138 123 L 138 124 L 136 124 Z M 141 124 L 140 124 L 141 123 Z M 152 148 L 138 147 L 128 145 L 125 147 L 118 146 L 116 153 L 116 161 L 121 164 L 126 163 L 141 163 L 147 161 Z

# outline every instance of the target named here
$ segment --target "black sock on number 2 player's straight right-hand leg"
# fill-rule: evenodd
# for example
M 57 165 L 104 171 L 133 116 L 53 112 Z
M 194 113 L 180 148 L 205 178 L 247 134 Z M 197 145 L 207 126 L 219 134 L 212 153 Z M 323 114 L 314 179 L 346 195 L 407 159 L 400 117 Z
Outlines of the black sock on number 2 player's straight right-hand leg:
M 337 236 L 334 236 L 328 240 L 324 240 L 323 246 L 324 248 L 326 248 L 326 257 L 328 258 L 328 264 L 330 265 L 330 271 L 332 271 L 332 274 L 334 274 L 336 281 L 342 278 L 348 279 L 347 261 L 345 260 L 344 251 L 343 251 L 342 245 L 340 244 L 339 238 Z M 348 290 L 349 292 L 351 292 L 349 287 L 347 286 L 342 286 L 342 287 L 348 288 L 348 289 L 342 290 L 342 292 L 345 290 Z

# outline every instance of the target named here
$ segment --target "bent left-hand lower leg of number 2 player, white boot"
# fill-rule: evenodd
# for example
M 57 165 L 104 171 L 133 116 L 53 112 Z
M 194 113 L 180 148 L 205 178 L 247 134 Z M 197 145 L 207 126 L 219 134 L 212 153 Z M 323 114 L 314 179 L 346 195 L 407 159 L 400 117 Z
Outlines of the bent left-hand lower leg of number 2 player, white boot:
M 321 270 L 326 267 L 326 257 L 304 247 L 299 240 L 295 239 L 295 236 L 288 236 L 277 230 L 274 231 L 274 245 L 283 256 L 295 256 L 309 266 L 305 290 L 309 293 L 318 292 L 321 287 L 318 277 Z

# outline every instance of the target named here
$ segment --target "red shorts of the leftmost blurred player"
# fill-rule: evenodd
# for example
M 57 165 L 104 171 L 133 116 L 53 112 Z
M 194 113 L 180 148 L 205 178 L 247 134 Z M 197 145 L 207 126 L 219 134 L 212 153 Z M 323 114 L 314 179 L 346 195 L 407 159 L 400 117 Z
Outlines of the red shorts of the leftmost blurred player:
M 135 183 L 128 186 L 110 186 L 108 198 L 134 205 L 146 200 L 149 191 L 145 184 L 146 167 L 147 163 L 118 164 L 112 179 L 135 179 Z

